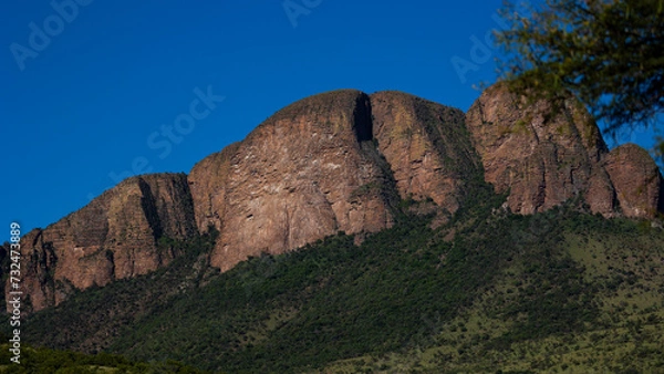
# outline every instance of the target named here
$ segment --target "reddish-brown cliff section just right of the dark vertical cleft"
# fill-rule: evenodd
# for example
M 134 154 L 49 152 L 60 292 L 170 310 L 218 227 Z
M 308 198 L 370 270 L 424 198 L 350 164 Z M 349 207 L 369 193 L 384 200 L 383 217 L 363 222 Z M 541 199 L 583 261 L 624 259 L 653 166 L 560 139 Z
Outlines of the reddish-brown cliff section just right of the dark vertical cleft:
M 371 95 L 373 132 L 403 199 L 433 199 L 458 209 L 467 181 L 479 175 L 461 111 L 400 92 Z

